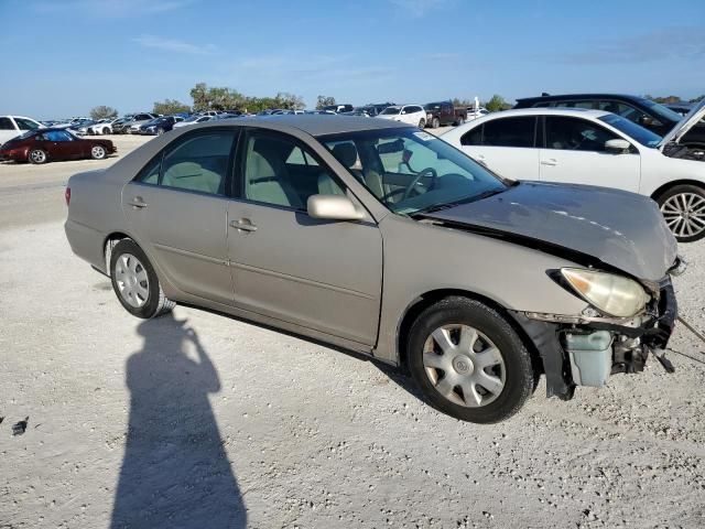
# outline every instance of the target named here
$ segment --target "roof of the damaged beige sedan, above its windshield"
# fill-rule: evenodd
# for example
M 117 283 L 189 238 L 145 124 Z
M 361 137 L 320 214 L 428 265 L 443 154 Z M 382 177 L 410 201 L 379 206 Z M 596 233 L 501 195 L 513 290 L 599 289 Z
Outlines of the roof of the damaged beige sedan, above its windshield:
M 267 123 L 267 125 L 264 125 Z M 328 136 L 341 132 L 357 132 L 360 130 L 400 129 L 410 127 L 408 123 L 391 121 L 388 119 L 359 118 L 355 116 L 322 116 L 311 114 L 278 115 L 267 118 L 241 118 L 238 126 L 261 127 L 285 132 L 290 129 L 299 129 L 311 136 Z M 262 127 L 264 125 L 264 127 Z M 208 121 L 198 123 L 197 127 L 218 127 L 223 121 Z M 196 127 L 196 126 L 195 126 Z

